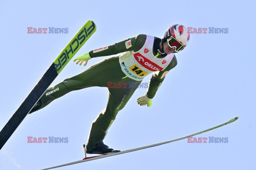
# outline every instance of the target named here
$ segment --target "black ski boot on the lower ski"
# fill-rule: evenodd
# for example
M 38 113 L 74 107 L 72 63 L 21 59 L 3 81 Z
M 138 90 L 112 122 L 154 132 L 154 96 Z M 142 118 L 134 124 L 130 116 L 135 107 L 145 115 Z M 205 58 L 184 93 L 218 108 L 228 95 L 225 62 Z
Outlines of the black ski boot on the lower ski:
M 86 148 L 85 148 L 86 149 Z M 119 152 L 120 150 L 114 150 L 109 148 L 107 145 L 103 143 L 103 141 L 97 143 L 91 151 L 86 150 L 87 154 L 100 154 L 100 155 L 107 155 L 115 152 Z

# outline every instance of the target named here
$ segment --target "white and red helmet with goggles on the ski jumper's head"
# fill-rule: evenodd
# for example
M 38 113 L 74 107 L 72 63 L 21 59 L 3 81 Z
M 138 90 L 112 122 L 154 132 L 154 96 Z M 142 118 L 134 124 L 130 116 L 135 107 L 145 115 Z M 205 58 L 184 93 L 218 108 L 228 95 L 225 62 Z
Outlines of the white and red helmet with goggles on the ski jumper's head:
M 188 45 L 190 35 L 188 29 L 180 24 L 175 24 L 169 27 L 162 37 L 163 43 L 168 41 L 170 47 L 174 47 L 178 53 Z

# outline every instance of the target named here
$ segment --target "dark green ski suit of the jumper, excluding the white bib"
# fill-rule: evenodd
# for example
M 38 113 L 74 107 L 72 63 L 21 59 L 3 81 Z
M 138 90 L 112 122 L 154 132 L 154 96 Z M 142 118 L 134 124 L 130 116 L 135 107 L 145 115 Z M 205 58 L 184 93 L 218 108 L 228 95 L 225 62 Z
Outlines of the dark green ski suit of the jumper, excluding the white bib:
M 125 42 L 131 40 L 131 48 L 127 49 Z M 90 51 L 90 56 L 100 57 L 123 53 L 127 51 L 137 51 L 145 44 L 146 35 L 138 35 L 132 38 L 120 41 L 114 45 L 107 46 L 107 48 L 99 48 Z M 161 43 L 161 39 L 155 37 L 154 47 L 158 47 Z M 157 50 L 154 50 L 154 55 L 157 57 L 164 57 Z M 63 80 L 53 87 L 48 88 L 41 97 L 41 109 L 50 104 L 54 99 L 57 99 L 70 91 L 79 90 L 88 87 L 107 87 L 109 91 L 108 103 L 106 108 L 101 111 L 99 116 L 92 122 L 89 139 L 87 141 L 87 150 L 90 151 L 96 145 L 96 143 L 102 141 L 109 129 L 110 125 L 115 120 L 117 113 L 124 108 L 127 101 L 131 98 L 134 91 L 137 89 L 141 81 L 136 81 L 126 77 L 121 70 L 121 66 L 118 60 L 119 55 L 107 58 L 97 64 L 94 64 L 84 72 L 75 75 L 74 77 Z M 147 96 L 153 98 L 157 89 L 164 80 L 166 71 L 171 70 L 177 65 L 177 59 L 174 56 L 170 64 L 162 71 L 155 72 L 149 83 L 147 90 Z M 164 74 L 165 73 L 165 74 Z M 164 74 L 164 75 L 163 75 Z M 162 78 L 162 79 L 161 79 Z M 133 84 L 132 88 L 128 86 L 115 87 L 109 86 L 109 82 L 116 84 Z M 114 87 L 114 88 L 113 88 Z M 126 88 L 125 88 L 126 87 Z

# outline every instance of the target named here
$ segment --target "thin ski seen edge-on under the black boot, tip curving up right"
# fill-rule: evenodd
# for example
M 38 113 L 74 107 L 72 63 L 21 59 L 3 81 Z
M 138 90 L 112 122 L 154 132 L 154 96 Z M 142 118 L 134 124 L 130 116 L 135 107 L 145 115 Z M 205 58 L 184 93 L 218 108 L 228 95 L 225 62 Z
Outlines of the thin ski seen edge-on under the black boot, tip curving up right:
M 87 161 L 90 161 L 90 160 L 95 160 L 95 159 L 100 159 L 100 158 L 106 158 L 106 157 L 109 157 L 109 156 L 115 156 L 115 155 L 125 154 L 125 153 L 127 153 L 127 152 L 137 151 L 137 150 L 141 150 L 141 149 L 146 149 L 146 148 L 151 148 L 151 147 L 163 145 L 163 144 L 166 144 L 166 143 L 175 142 L 175 141 L 178 141 L 178 140 L 186 139 L 186 138 L 188 138 L 188 137 L 193 137 L 193 136 L 195 136 L 195 135 L 197 135 L 197 134 L 201 134 L 201 133 L 204 133 L 204 132 L 211 131 L 211 130 L 213 130 L 213 129 L 220 128 L 221 126 L 224 126 L 224 125 L 226 125 L 226 124 L 235 122 L 237 119 L 238 119 L 238 117 L 235 117 L 235 118 L 231 119 L 230 121 L 228 121 L 228 122 L 226 122 L 226 123 L 220 124 L 220 125 L 218 125 L 218 126 L 215 126 L 215 127 L 213 127 L 213 128 L 210 128 L 210 129 L 206 129 L 206 130 L 201 131 L 201 132 L 197 132 L 197 133 L 194 133 L 194 134 L 187 135 L 186 137 L 182 137 L 182 138 L 178 138 L 178 139 L 174 139 L 174 140 L 170 140 L 170 141 L 166 141 L 166 142 L 156 143 L 156 144 L 154 144 L 154 145 L 148 145 L 148 146 L 145 146 L 145 147 L 140 147 L 140 148 L 135 148 L 135 149 L 130 149 L 130 150 L 124 150 L 124 151 L 121 151 L 121 152 L 115 152 L 115 153 L 108 154 L 108 155 L 99 155 L 99 156 L 93 156 L 93 157 L 85 157 L 84 159 L 78 160 L 78 161 L 76 161 L 76 162 L 71 162 L 71 163 L 68 163 L 68 164 L 62 164 L 62 165 L 58 165 L 58 166 L 53 166 L 53 167 L 45 168 L 45 169 L 58 168 L 58 167 L 62 167 L 62 166 L 67 166 L 67 165 L 72 165 L 72 164 L 87 162 Z M 41 170 L 45 170 L 45 169 L 41 169 Z

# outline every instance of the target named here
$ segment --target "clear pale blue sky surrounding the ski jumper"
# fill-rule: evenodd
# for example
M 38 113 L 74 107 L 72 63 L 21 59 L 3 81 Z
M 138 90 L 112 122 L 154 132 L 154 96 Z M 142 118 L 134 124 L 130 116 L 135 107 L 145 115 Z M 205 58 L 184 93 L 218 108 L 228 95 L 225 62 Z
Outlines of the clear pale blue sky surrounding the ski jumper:
M 136 99 L 147 90 L 137 89 L 105 139 L 114 149 L 132 149 L 184 137 L 239 116 L 232 124 L 197 136 L 227 137 L 228 143 L 182 140 L 59 169 L 252 169 L 254 6 L 254 1 L 2 1 L 0 129 L 87 20 L 95 22 L 97 31 L 76 56 L 140 33 L 162 37 L 177 23 L 228 28 L 228 33 L 191 33 L 153 105 L 137 105 Z M 68 28 L 68 33 L 28 34 L 27 27 Z M 93 58 L 85 67 L 71 61 L 52 85 L 105 58 Z M 106 106 L 107 97 L 106 88 L 87 88 L 28 115 L 1 149 L 0 169 L 40 169 L 82 159 L 91 122 Z M 68 143 L 28 143 L 27 137 L 67 137 Z

